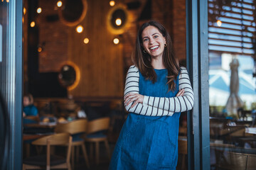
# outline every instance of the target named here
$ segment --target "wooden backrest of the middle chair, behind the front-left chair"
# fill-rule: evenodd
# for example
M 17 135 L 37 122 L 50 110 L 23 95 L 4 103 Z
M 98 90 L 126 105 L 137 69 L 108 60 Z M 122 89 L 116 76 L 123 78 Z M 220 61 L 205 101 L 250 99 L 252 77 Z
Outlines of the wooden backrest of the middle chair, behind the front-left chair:
M 80 132 L 86 132 L 87 129 L 87 119 L 79 119 L 73 120 L 69 123 L 60 123 L 56 126 L 55 132 L 68 132 L 69 134 L 73 135 Z

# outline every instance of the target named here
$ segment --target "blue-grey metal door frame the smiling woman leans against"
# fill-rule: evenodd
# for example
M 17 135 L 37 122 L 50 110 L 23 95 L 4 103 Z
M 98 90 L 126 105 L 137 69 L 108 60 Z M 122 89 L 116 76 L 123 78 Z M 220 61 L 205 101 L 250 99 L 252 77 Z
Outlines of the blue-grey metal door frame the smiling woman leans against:
M 186 56 L 194 91 L 188 116 L 188 169 L 210 169 L 208 1 L 186 0 Z

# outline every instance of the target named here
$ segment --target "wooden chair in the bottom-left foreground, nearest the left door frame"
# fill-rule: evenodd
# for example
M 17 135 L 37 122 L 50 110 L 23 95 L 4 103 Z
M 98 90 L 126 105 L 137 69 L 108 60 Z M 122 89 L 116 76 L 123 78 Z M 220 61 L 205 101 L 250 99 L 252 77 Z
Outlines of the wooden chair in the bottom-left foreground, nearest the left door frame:
M 46 146 L 46 155 L 38 155 L 35 157 L 28 157 L 23 159 L 23 170 L 25 169 L 68 169 L 70 167 L 70 151 L 71 151 L 72 137 L 68 133 L 60 133 L 41 137 L 32 142 L 33 145 Z M 68 145 L 68 152 L 65 157 L 50 154 L 50 146 L 66 146 Z

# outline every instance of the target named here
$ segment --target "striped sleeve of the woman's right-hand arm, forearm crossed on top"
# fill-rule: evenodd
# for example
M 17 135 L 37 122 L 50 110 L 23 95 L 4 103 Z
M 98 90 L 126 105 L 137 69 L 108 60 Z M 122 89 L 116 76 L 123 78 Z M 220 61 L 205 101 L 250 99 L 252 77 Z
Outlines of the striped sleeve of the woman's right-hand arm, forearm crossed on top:
M 181 67 L 181 73 L 178 78 L 178 89 L 184 89 L 183 96 L 172 98 L 144 96 L 143 105 L 153 106 L 170 112 L 189 111 L 193 108 L 193 89 L 188 77 L 188 71 Z

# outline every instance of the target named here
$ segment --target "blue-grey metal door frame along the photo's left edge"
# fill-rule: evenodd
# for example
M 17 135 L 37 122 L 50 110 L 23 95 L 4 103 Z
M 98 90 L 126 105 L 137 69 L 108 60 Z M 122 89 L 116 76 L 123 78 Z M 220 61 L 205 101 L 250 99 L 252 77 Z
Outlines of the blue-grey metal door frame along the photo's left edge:
M 3 2 L 3 3 L 7 3 Z M 4 100 L 9 110 L 11 124 L 9 159 L 7 169 L 22 169 L 22 147 L 23 147 L 23 124 L 22 124 L 22 103 L 23 103 L 23 56 L 22 56 L 22 35 L 23 35 L 23 1 L 13 0 L 8 2 L 8 45 L 7 55 L 9 64 L 6 69 L 6 90 L 2 91 Z M 4 50 L 4 49 L 3 49 Z M 7 79 L 9 79 L 7 81 Z M 14 86 L 11 89 L 10 86 Z

